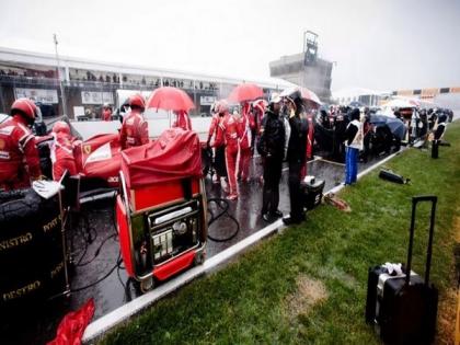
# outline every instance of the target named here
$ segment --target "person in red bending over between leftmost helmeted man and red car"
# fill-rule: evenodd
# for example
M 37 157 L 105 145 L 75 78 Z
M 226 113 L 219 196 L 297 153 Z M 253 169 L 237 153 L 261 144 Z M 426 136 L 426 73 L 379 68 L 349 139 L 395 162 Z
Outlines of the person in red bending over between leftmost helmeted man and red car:
M 69 125 L 58 120 L 53 126 L 53 137 L 55 139 L 51 146 L 53 180 L 59 181 L 66 170 L 70 175 L 77 175 L 73 138 Z

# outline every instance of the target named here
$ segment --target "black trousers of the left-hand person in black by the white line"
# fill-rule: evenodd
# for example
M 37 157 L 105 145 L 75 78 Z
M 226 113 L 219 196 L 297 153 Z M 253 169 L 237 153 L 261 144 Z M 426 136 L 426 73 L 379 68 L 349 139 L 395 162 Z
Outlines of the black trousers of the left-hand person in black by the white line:
M 283 157 L 264 159 L 264 188 L 262 193 L 262 215 L 274 214 L 279 205 L 279 181 L 281 180 Z

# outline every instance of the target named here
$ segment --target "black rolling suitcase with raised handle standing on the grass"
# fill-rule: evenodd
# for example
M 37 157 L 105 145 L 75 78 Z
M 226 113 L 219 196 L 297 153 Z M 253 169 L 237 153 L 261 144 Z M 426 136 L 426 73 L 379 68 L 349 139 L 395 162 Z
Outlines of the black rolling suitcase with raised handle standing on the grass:
M 432 203 L 425 278 L 411 271 L 415 210 L 419 202 Z M 438 290 L 429 285 L 436 196 L 412 198 L 407 265 L 400 275 L 383 266 L 369 268 L 366 321 L 373 323 L 388 344 L 430 344 L 435 337 Z

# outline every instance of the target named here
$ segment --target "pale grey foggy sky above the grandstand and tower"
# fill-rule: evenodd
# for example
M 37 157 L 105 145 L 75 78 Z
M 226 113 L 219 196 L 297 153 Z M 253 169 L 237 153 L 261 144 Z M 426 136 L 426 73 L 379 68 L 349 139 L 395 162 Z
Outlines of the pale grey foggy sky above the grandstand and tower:
M 239 78 L 300 53 L 337 61 L 332 89 L 460 87 L 460 0 L 0 0 L 0 46 Z

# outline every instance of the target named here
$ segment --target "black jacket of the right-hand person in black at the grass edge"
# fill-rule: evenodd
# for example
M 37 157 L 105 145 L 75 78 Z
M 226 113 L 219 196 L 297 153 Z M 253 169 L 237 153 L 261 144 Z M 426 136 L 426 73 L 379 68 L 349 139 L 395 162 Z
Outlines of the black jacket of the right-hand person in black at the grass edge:
M 288 162 L 301 162 L 307 159 L 308 122 L 298 115 L 289 118 L 290 137 L 288 143 Z

